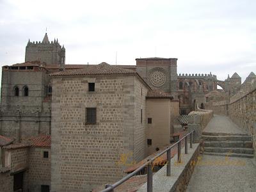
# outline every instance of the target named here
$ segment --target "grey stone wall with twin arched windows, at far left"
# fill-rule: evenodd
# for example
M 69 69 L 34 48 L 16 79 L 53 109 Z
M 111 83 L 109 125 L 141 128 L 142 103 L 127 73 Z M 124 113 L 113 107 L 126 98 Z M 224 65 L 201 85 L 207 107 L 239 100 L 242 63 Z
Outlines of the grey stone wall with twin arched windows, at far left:
M 3 68 L 1 81 L 0 134 L 23 141 L 51 132 L 51 103 L 43 102 L 50 78 L 44 70 Z M 28 87 L 28 96 L 22 89 Z M 19 88 L 19 96 L 14 95 Z

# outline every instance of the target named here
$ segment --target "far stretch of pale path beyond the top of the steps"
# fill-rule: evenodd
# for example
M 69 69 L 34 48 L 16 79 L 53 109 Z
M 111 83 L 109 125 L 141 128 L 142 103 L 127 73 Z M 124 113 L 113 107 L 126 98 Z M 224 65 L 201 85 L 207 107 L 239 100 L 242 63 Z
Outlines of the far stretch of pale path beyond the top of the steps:
M 204 132 L 246 133 L 227 116 L 214 115 Z

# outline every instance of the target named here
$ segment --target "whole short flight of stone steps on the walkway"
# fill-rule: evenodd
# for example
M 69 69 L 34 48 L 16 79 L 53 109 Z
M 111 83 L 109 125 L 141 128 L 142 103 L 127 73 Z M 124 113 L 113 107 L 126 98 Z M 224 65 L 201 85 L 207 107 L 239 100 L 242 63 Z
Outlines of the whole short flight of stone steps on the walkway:
M 252 136 L 248 134 L 203 132 L 202 138 L 205 155 L 253 158 Z

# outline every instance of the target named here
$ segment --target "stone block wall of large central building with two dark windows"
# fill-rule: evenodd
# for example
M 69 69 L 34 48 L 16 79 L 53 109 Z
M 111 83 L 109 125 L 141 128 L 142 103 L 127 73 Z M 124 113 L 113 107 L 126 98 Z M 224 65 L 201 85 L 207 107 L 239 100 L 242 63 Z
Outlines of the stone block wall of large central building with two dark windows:
M 124 176 L 122 154 L 132 152 L 132 161 L 143 158 L 144 152 L 139 149 L 143 143 L 138 140 L 145 141 L 145 130 L 135 126 L 135 116 L 138 109 L 145 108 L 145 101 L 135 102 L 139 92 L 134 88 L 136 78 L 52 80 L 51 191 L 90 191 L 116 182 Z M 95 83 L 95 92 L 88 92 L 88 83 Z M 97 108 L 96 124 L 86 124 L 86 108 Z

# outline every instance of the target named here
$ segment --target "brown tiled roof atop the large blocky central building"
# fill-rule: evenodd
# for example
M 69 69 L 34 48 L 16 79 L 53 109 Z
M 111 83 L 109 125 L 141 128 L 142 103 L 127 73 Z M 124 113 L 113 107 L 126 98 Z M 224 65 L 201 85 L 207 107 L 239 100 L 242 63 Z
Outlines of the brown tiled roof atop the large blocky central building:
M 86 76 L 86 75 L 112 75 L 112 74 L 136 74 L 133 70 L 114 67 L 108 63 L 100 63 L 99 65 L 88 65 L 85 68 L 76 70 L 64 70 L 54 72 L 50 76 Z

